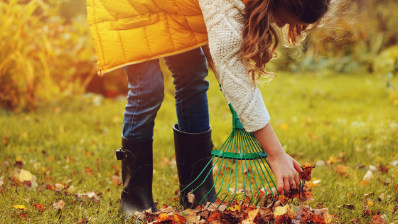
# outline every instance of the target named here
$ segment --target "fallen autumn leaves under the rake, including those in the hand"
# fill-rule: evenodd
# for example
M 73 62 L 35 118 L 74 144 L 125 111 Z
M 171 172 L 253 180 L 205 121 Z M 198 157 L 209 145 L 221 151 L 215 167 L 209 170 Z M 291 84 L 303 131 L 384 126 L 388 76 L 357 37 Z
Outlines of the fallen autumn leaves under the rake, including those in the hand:
M 311 169 L 315 166 L 304 166 L 304 172 L 299 175 L 304 181 L 310 181 Z M 189 201 L 193 201 L 193 194 L 188 195 Z M 271 198 L 271 197 L 269 197 Z M 289 206 L 287 203 L 294 198 L 300 201 L 308 201 L 312 198 L 311 190 L 307 186 L 300 189 L 291 189 L 286 196 L 280 195 L 276 200 L 262 206 L 249 205 L 249 197 L 244 200 L 232 202 L 220 201 L 200 205 L 195 209 L 178 211 L 171 206 L 163 205 L 161 210 L 154 213 L 151 209 L 143 213 L 136 212 L 135 218 L 144 223 L 332 223 L 332 216 L 328 208 L 310 208 L 303 206 Z

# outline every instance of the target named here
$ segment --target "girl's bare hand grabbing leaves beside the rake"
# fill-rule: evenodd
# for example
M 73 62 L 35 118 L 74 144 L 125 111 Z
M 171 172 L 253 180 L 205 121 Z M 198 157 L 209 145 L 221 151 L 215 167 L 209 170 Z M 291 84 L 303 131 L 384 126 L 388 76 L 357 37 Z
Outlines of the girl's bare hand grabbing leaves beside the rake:
M 276 177 L 277 191 L 280 194 L 283 194 L 284 190 L 288 193 L 290 189 L 300 186 L 297 172 L 301 173 L 303 170 L 295 159 L 291 158 L 285 152 L 275 156 L 268 156 L 267 159 Z

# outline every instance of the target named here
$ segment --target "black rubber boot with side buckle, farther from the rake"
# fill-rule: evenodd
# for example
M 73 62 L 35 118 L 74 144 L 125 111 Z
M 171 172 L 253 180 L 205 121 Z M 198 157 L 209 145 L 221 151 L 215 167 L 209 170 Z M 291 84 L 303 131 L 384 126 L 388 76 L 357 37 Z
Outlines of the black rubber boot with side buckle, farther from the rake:
M 153 140 L 131 140 L 122 137 L 122 148 L 116 151 L 122 160 L 123 191 L 120 195 L 119 213 L 134 215 L 136 211 L 157 208 L 152 197 L 152 174 L 154 170 Z

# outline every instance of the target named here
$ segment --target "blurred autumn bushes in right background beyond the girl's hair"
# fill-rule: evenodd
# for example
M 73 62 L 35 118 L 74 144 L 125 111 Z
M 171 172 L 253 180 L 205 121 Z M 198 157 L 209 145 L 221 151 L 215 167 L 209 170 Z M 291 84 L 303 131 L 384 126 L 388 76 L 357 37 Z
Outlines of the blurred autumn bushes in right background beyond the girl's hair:
M 301 55 L 296 49 L 282 48 L 279 54 L 281 59 L 276 60 L 273 67 L 320 74 L 326 70 L 333 73 L 378 74 L 382 72 L 379 70 L 382 60 L 396 60 L 398 2 L 340 2 L 342 4 L 335 14 L 302 44 Z M 382 53 L 387 49 L 389 54 Z

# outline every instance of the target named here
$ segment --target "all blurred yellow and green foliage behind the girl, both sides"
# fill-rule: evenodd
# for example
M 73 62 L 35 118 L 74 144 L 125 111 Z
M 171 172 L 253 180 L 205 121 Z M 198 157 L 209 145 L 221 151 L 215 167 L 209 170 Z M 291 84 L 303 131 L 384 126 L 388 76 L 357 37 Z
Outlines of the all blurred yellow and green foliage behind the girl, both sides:
M 122 69 L 97 76 L 85 4 L 84 0 L 0 1 L 1 107 L 14 112 L 34 110 L 90 97 L 87 92 L 126 95 Z M 295 48 L 279 48 L 279 57 L 269 63 L 269 69 L 397 75 L 396 11 L 395 0 L 348 1 L 325 26 L 311 33 L 301 54 Z M 398 104 L 394 100 L 398 87 L 387 79 L 392 100 Z

